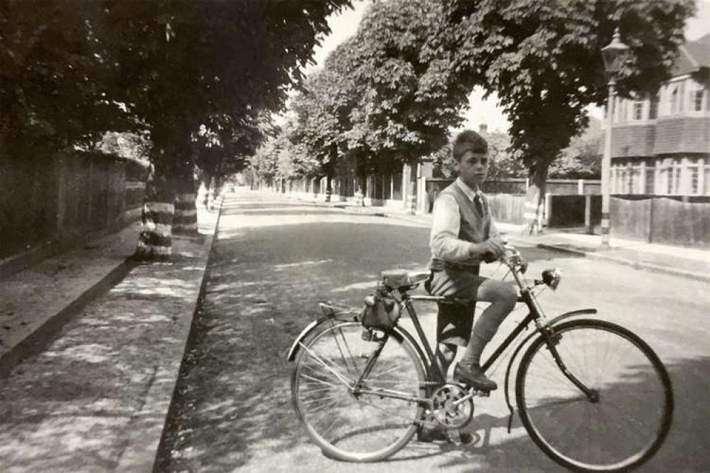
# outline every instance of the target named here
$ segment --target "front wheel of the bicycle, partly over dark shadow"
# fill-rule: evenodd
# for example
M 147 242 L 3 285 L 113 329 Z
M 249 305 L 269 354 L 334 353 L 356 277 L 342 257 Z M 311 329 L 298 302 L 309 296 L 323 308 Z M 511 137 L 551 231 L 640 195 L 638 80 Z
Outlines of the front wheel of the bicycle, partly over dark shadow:
M 528 347 L 515 396 L 532 440 L 552 460 L 585 472 L 638 467 L 661 446 L 671 425 L 673 392 L 653 350 L 630 330 L 602 320 L 554 327 Z M 556 359 L 555 353 L 559 354 Z M 589 388 L 583 393 L 571 376 Z

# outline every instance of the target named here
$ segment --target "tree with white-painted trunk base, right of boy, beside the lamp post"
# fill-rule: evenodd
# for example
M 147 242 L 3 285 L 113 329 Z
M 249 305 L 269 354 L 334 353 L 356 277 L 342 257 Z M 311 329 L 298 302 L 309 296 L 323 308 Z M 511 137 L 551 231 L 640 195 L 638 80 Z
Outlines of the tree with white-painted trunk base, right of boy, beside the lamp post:
M 620 94 L 654 91 L 669 77 L 693 0 L 544 2 L 441 0 L 458 77 L 495 91 L 511 121 L 512 148 L 529 170 L 527 231 L 539 229 L 549 166 L 603 104 L 601 48 L 615 28 L 631 57 Z

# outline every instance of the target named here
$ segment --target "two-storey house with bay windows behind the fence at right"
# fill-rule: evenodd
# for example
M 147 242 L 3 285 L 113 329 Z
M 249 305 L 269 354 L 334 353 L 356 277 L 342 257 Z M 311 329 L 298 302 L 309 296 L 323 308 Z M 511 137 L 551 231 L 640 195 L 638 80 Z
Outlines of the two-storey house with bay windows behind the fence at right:
M 611 193 L 710 195 L 710 34 L 685 43 L 655 97 L 617 98 Z

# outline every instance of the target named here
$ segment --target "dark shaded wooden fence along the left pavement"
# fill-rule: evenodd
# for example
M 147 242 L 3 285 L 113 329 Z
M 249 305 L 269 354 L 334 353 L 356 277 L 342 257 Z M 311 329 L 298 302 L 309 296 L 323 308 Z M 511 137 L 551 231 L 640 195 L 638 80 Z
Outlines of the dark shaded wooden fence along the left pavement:
M 145 167 L 102 153 L 0 161 L 0 258 L 140 217 Z

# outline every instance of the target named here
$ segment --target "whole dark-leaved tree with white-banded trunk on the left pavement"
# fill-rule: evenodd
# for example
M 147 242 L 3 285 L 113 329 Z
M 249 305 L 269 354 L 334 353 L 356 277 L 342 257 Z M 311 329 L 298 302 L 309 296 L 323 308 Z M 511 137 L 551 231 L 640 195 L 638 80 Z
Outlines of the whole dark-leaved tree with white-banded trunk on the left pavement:
M 146 187 L 136 256 L 171 253 L 176 182 L 193 170 L 192 137 L 207 121 L 239 124 L 284 106 L 303 80 L 326 17 L 348 0 L 106 0 L 107 44 L 119 64 L 117 91 L 151 133 L 154 173 Z M 248 120 L 246 120 L 248 123 Z

